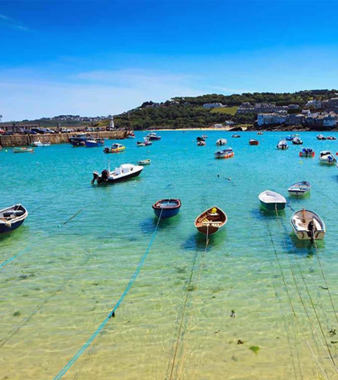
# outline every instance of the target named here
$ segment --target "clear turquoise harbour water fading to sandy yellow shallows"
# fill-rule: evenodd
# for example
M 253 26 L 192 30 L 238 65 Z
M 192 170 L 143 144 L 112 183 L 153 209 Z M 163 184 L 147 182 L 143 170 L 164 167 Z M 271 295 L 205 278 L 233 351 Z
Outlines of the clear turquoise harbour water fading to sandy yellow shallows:
M 203 133 L 206 145 L 196 146 Z M 25 250 L 0 268 L 0 379 L 57 375 L 125 290 L 156 226 L 151 205 L 168 197 L 181 199 L 180 213 L 160 222 L 115 318 L 64 379 L 337 379 L 327 346 L 338 365 L 331 343 L 338 337 L 329 334 L 338 332 L 330 301 L 338 309 L 338 170 L 318 157 L 336 153 L 338 143 L 300 133 L 316 151 L 300 158 L 300 146 L 276 149 L 284 133 L 159 134 L 161 141 L 137 147 L 145 136 L 137 132 L 125 152 L 110 155 L 68 144 L 0 152 L 1 208 L 20 202 L 29 211 L 21 228 L 0 238 L 0 263 Z M 219 138 L 233 158 L 214 159 Z M 138 178 L 91 185 L 108 159 L 112 169 L 145 158 L 151 164 Z M 289 197 L 301 180 L 311 194 Z M 267 189 L 288 200 L 278 217 L 260 209 Z M 213 205 L 228 223 L 205 251 L 193 222 Z M 291 233 L 292 210 L 302 207 L 326 223 L 316 246 Z

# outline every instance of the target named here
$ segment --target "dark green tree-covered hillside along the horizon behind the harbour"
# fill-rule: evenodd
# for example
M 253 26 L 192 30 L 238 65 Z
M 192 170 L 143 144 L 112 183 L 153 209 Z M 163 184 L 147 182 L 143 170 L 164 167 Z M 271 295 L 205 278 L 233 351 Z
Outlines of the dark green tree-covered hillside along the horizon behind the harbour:
M 243 102 L 251 104 L 267 102 L 278 106 L 299 104 L 299 108 L 290 110 L 299 112 L 311 99 L 329 99 L 337 96 L 337 90 L 308 90 L 295 93 L 243 93 L 233 95 L 208 94 L 200 96 L 174 97 L 162 103 L 146 101 L 140 107 L 114 116 L 117 128 L 143 130 L 155 128 L 203 128 L 213 124 L 233 121 L 235 125 L 253 124 L 256 114 L 237 114 L 237 108 Z M 203 108 L 205 103 L 222 103 L 225 107 Z M 59 123 L 61 128 L 106 127 L 109 120 L 98 122 L 57 121 L 42 118 L 23 120 L 17 126 L 35 124 L 40 127 L 53 128 Z M 3 123 L 4 124 L 4 123 Z

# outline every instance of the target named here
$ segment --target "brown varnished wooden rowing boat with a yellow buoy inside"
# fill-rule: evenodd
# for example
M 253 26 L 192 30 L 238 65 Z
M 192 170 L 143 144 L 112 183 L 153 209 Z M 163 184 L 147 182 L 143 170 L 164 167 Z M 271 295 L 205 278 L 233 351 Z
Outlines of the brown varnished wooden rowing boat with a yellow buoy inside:
M 226 213 L 217 206 L 203 211 L 195 219 L 195 227 L 203 235 L 215 234 L 228 221 Z

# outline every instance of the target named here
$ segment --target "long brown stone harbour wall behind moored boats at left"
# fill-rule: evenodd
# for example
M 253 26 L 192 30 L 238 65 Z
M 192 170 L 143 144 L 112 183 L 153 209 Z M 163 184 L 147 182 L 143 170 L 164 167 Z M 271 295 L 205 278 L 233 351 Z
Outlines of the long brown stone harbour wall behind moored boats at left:
M 68 139 L 72 136 L 78 135 L 78 133 L 55 133 L 55 134 L 38 134 L 38 135 L 0 135 L 1 146 L 27 146 L 33 141 L 40 139 L 43 142 L 45 139 L 51 144 L 60 144 L 68 142 Z M 98 138 L 122 140 L 128 135 L 128 131 L 102 131 L 102 132 L 88 132 L 87 135 L 91 135 Z

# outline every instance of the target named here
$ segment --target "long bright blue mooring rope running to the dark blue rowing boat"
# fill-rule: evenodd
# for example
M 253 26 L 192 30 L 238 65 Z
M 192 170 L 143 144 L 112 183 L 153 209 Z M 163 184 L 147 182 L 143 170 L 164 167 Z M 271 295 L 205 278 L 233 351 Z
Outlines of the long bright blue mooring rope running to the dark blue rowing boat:
M 108 316 L 106 317 L 106 319 L 101 323 L 101 325 L 98 327 L 98 329 L 96 330 L 96 332 L 94 332 L 94 334 L 87 340 L 87 342 L 79 349 L 79 351 L 69 360 L 69 362 L 62 368 L 62 370 L 55 376 L 55 378 L 53 380 L 59 380 L 63 377 L 63 375 L 72 367 L 72 365 L 79 359 L 79 357 L 83 354 L 83 352 L 86 350 L 86 348 L 92 343 L 92 341 L 95 339 L 95 337 L 97 336 L 97 334 L 103 329 L 103 327 L 105 326 L 105 324 L 109 321 L 109 319 L 112 317 L 112 315 L 114 314 L 115 310 L 119 307 L 119 305 L 121 304 L 121 302 L 123 301 L 124 297 L 127 295 L 128 291 L 130 290 L 130 288 L 132 287 L 132 285 L 134 284 L 134 281 L 136 280 L 144 262 L 145 262 L 145 258 L 150 250 L 150 247 L 151 247 L 151 244 L 156 236 L 156 232 L 157 232 L 157 228 L 158 228 L 158 224 L 159 224 L 159 221 L 161 219 L 161 216 L 162 216 L 162 212 L 163 212 L 163 208 L 161 209 L 161 213 L 160 213 L 160 216 L 158 217 L 158 221 L 157 221 L 157 224 L 156 224 L 156 227 L 155 227 L 155 231 L 153 232 L 152 234 L 152 237 L 150 239 L 150 242 L 148 244 L 148 247 L 145 251 L 145 254 L 142 256 L 142 259 L 138 265 L 138 267 L 136 268 L 136 271 L 134 272 L 132 278 L 130 279 L 125 291 L 123 292 L 123 294 L 121 295 L 120 299 L 117 301 L 116 305 L 114 306 L 113 310 L 108 314 Z

